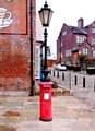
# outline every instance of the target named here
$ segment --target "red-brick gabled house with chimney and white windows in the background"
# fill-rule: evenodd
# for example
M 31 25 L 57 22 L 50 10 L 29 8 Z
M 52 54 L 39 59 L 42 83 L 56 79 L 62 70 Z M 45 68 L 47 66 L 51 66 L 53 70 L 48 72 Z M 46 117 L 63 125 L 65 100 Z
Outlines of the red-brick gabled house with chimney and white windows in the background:
M 79 57 L 95 57 L 95 21 L 84 26 L 84 20 L 78 20 L 78 26 L 63 24 L 57 39 L 57 61 L 66 64 L 79 64 Z

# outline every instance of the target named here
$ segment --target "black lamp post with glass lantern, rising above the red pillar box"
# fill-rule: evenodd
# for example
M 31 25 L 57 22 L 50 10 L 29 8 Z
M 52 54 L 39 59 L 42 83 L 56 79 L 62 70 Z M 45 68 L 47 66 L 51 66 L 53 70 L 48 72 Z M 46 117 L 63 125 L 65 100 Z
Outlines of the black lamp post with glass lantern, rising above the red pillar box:
M 50 8 L 48 8 L 47 1 L 45 1 L 44 8 L 41 8 L 40 11 L 38 11 L 38 13 L 39 13 L 41 25 L 45 27 L 45 29 L 44 29 L 45 61 L 44 61 L 44 67 L 41 70 L 41 73 L 44 74 L 41 76 L 41 81 L 49 81 L 49 79 L 48 79 L 49 70 L 47 67 L 47 35 L 48 35 L 47 27 L 50 24 L 52 11 Z

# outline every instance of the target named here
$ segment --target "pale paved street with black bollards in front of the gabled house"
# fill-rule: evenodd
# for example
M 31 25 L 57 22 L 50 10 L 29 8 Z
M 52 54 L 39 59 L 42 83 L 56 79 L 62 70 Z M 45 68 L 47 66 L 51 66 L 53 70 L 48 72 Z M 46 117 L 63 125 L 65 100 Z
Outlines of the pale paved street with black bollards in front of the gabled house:
M 64 80 L 62 80 L 62 73 L 64 73 Z M 80 102 L 86 104 L 90 108 L 94 109 L 95 105 L 95 75 L 88 75 L 85 71 L 73 72 L 73 71 L 60 71 L 59 78 L 57 78 L 57 71 L 49 75 L 55 80 L 61 87 L 71 90 L 73 97 Z M 76 76 L 76 84 L 75 84 Z M 83 87 L 83 78 L 85 78 L 85 87 Z

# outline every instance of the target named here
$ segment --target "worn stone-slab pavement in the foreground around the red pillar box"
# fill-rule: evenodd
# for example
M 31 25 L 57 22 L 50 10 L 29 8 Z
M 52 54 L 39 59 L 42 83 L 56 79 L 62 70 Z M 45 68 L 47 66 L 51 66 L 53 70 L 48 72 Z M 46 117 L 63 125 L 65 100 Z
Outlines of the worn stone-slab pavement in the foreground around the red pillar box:
M 52 121 L 39 120 L 39 96 L 0 92 L 0 131 L 95 131 L 95 109 L 74 96 L 51 98 Z

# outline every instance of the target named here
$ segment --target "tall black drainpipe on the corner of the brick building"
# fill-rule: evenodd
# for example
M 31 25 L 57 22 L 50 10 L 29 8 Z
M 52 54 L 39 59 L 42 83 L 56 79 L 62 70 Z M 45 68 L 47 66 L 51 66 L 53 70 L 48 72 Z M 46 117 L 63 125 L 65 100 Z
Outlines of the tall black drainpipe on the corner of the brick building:
M 33 0 L 31 0 L 31 93 L 29 96 L 34 96 L 33 93 L 33 86 L 34 86 L 34 80 L 33 80 Z

